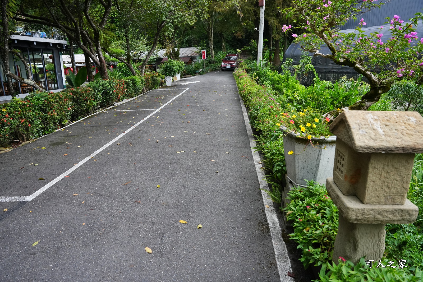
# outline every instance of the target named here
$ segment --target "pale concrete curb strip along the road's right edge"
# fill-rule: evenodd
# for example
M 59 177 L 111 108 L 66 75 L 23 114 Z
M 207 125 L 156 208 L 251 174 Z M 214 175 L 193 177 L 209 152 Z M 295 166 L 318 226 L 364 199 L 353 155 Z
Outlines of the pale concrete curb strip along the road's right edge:
M 236 84 L 236 83 L 235 83 Z M 239 89 L 236 84 L 236 90 Z M 253 147 L 255 147 L 255 141 L 253 137 L 253 130 L 251 129 L 250 119 L 248 118 L 247 109 L 244 106 L 244 100 L 239 95 L 239 101 L 242 107 L 242 113 L 244 115 L 245 127 L 247 128 L 248 139 L 250 140 L 251 153 L 253 154 L 255 171 L 257 172 L 258 183 L 260 183 L 260 189 L 269 189 L 266 182 L 266 176 L 264 170 L 261 167 L 260 156 Z M 288 276 L 288 271 L 292 272 L 291 261 L 289 260 L 288 251 L 286 249 L 285 242 L 282 238 L 282 230 L 280 228 L 280 222 L 277 218 L 276 210 L 273 207 L 272 200 L 269 199 L 266 192 L 261 190 L 261 196 L 263 197 L 264 211 L 266 212 L 267 223 L 269 224 L 270 236 L 272 237 L 273 249 L 275 251 L 277 270 L 279 271 L 280 281 L 294 281 L 294 278 Z M 269 208 L 266 207 L 269 206 Z

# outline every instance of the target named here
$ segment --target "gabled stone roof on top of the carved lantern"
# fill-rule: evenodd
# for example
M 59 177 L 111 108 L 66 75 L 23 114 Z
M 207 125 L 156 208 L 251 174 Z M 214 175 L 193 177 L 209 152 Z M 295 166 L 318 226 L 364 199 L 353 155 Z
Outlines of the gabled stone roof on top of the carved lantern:
M 418 112 L 343 111 L 330 132 L 359 153 L 423 152 Z

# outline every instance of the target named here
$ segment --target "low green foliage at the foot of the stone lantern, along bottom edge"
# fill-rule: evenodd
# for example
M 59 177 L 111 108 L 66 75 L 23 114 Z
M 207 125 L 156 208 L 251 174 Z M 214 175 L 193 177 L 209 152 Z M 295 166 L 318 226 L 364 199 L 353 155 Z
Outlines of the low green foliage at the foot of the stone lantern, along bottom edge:
M 379 263 L 379 262 L 377 262 Z M 354 265 L 351 261 L 343 261 L 339 259 L 338 265 L 335 263 L 323 264 L 319 280 L 316 282 L 414 282 L 422 281 L 423 271 L 416 269 L 414 275 L 410 275 L 405 271 L 407 268 L 392 268 L 387 266 L 389 260 L 383 260 L 382 264 L 386 266 L 382 268 L 373 265 L 372 268 L 366 266 L 365 259 L 362 257 L 360 261 Z M 421 266 L 420 266 L 421 268 Z M 326 273 L 327 271 L 327 273 Z

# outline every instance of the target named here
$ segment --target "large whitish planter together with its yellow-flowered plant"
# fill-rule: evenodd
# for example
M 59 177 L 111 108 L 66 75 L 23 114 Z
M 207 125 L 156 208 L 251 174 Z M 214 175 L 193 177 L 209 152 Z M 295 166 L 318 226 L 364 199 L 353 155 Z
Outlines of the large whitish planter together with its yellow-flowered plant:
M 332 177 L 335 159 L 330 120 L 317 110 L 292 110 L 282 114 L 280 126 L 288 181 L 296 186 L 307 186 L 305 179 L 324 184 Z

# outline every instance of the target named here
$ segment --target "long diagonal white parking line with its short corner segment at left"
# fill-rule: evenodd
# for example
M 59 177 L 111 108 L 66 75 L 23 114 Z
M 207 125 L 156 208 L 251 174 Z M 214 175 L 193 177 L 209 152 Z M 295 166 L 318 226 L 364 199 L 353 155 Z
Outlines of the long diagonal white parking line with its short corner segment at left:
M 124 135 L 126 135 L 127 133 L 129 133 L 129 131 L 131 131 L 132 129 L 134 129 L 135 127 L 139 126 L 141 123 L 143 123 L 145 120 L 147 120 L 149 117 L 151 117 L 152 115 L 154 115 L 156 112 L 158 112 L 159 110 L 161 110 L 163 107 L 167 106 L 171 101 L 173 101 L 174 99 L 178 98 L 179 96 L 181 96 L 185 91 L 187 91 L 189 88 L 185 88 L 184 91 L 182 91 L 181 93 L 179 93 L 177 96 L 173 97 L 172 99 L 170 99 L 166 104 L 164 104 L 162 107 L 159 107 L 157 110 L 155 110 L 154 112 L 152 112 L 150 115 L 148 115 L 146 118 L 143 118 L 142 120 L 140 120 L 138 123 L 134 124 L 133 126 L 131 126 L 129 129 L 126 129 L 121 135 L 117 136 L 115 139 L 113 139 L 112 141 L 108 142 L 106 145 L 104 145 L 102 148 L 99 148 L 97 151 L 95 151 L 94 153 L 92 153 L 91 155 L 89 155 L 88 157 L 86 157 L 85 159 L 83 159 L 81 162 L 79 162 L 78 164 L 72 166 L 69 170 L 66 170 L 66 172 L 63 172 L 61 175 L 59 175 L 58 177 L 56 177 L 55 179 L 53 179 L 52 181 L 50 181 L 49 183 L 47 183 L 46 185 L 44 185 L 43 187 L 41 187 L 40 189 L 38 189 L 36 192 L 34 192 L 33 194 L 31 194 L 30 196 L 22 196 L 22 197 L 0 197 L 0 202 L 22 202 L 22 201 L 30 201 L 33 200 L 35 197 L 37 197 L 39 194 L 41 194 L 42 192 L 46 191 L 47 189 L 49 189 L 51 186 L 53 186 L 55 183 L 58 183 L 60 180 L 62 180 L 65 176 L 69 175 L 71 172 L 73 172 L 74 170 L 76 170 L 78 167 L 80 167 L 82 164 L 85 164 L 85 162 L 87 162 L 88 160 L 91 159 L 91 157 L 96 156 L 98 153 L 100 153 L 101 151 L 103 151 L 105 148 L 109 147 L 110 145 L 112 145 L 114 142 L 116 142 L 117 140 L 121 139 Z

